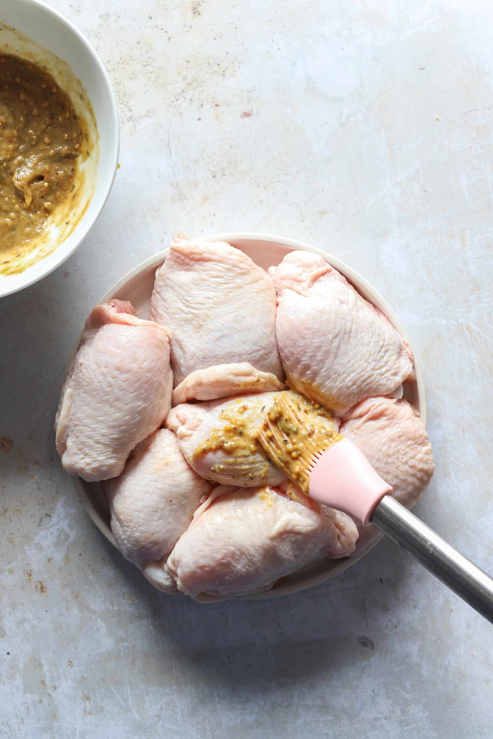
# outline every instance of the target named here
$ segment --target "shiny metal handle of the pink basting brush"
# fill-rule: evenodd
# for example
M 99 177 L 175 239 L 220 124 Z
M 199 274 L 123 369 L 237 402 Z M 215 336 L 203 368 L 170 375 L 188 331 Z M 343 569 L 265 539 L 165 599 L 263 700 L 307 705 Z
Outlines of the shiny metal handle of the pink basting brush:
M 493 624 L 493 579 L 404 505 L 385 495 L 370 522 Z

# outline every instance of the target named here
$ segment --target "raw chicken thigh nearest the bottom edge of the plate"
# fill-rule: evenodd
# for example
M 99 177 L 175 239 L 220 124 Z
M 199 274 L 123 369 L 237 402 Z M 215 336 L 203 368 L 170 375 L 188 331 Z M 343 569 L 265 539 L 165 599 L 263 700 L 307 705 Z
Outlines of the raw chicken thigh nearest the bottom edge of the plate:
M 313 511 L 270 487 L 216 488 L 177 542 L 168 568 L 179 590 L 242 596 L 261 593 L 323 557 L 354 551 L 350 517 Z

